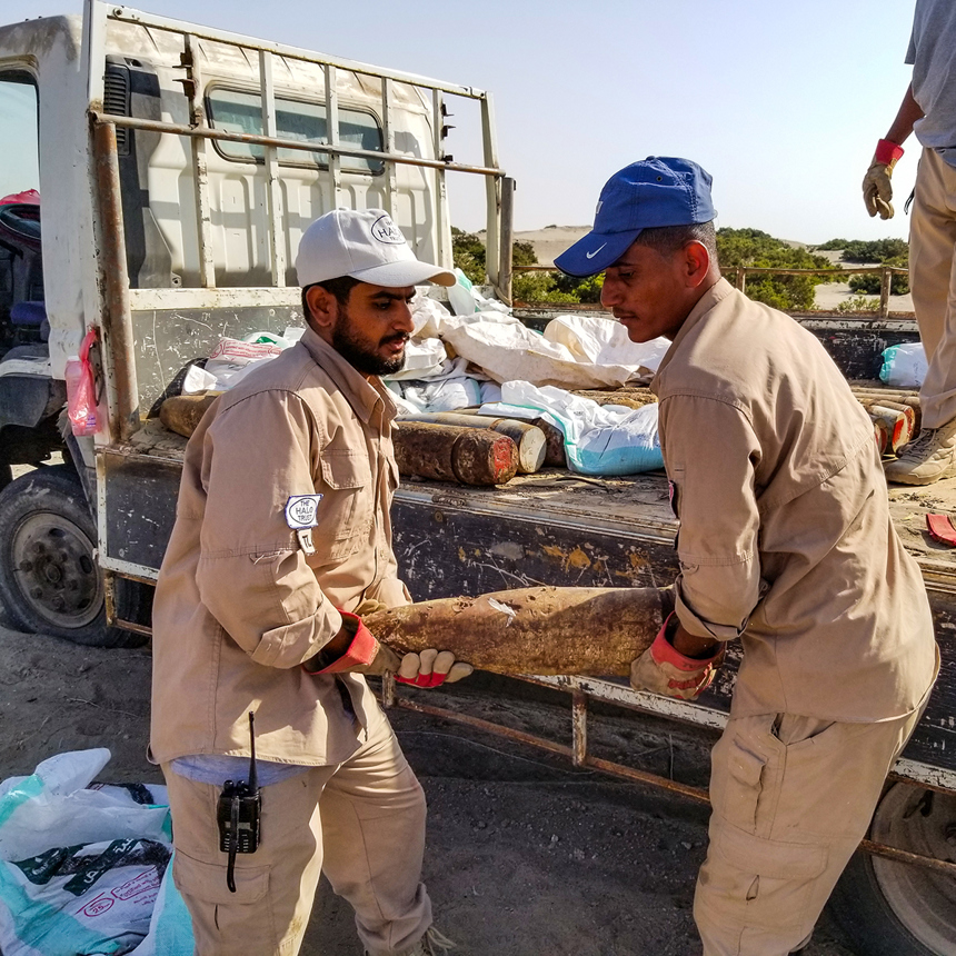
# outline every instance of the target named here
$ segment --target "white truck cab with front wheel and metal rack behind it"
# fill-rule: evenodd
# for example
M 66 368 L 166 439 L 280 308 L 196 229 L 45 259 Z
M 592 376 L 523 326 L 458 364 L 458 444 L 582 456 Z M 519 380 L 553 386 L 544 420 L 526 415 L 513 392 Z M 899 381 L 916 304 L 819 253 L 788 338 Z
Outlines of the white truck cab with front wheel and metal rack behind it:
M 477 106 L 478 165 L 446 155 L 451 99 Z M 142 641 L 178 462 L 159 494 L 133 436 L 219 339 L 301 325 L 295 253 L 327 210 L 385 208 L 450 267 L 446 176 L 478 175 L 494 245 L 490 96 L 88 0 L 0 28 L 0 485 L 63 458 L 0 504 L 0 599 L 24 629 Z M 77 438 L 63 379 L 89 328 L 103 425 Z

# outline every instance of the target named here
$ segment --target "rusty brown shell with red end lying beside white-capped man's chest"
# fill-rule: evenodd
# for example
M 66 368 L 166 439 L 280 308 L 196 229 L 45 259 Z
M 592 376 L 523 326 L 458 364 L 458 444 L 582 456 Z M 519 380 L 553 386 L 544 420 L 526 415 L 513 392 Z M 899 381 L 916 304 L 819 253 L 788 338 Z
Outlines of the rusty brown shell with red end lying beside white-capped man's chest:
M 507 435 L 426 421 L 396 425 L 395 460 L 402 475 L 461 485 L 505 485 L 518 470 L 518 447 Z

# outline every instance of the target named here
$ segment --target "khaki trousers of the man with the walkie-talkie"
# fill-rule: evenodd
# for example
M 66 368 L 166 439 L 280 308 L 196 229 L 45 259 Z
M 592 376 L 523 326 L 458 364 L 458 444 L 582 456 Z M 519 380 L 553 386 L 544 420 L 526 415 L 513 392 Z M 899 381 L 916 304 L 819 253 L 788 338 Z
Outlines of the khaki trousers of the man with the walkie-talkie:
M 421 883 L 425 795 L 380 710 L 343 764 L 262 788 L 261 843 L 236 857 L 226 886 L 219 788 L 162 767 L 172 810 L 173 878 L 192 916 L 197 956 L 295 956 L 323 872 L 356 912 L 372 956 L 401 953 L 431 925 Z

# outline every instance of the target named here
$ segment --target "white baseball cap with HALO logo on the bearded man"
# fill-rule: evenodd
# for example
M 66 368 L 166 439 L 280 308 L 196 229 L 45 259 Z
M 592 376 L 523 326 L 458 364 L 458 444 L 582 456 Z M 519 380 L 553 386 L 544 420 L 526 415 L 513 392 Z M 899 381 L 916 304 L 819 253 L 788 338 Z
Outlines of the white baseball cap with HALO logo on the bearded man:
M 320 216 L 302 235 L 296 272 L 302 288 L 342 276 L 390 288 L 457 281 L 454 272 L 416 259 L 384 209 L 333 209 Z

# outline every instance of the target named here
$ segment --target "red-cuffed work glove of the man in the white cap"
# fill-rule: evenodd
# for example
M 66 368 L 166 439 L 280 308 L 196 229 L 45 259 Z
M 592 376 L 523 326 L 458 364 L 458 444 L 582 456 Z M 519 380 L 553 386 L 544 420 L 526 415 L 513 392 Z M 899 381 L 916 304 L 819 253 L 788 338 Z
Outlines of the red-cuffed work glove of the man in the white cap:
M 378 608 L 377 608 L 378 609 Z M 422 650 L 399 657 L 380 644 L 362 619 L 341 611 L 342 629 L 317 655 L 303 661 L 309 674 L 395 674 L 396 680 L 416 687 L 438 687 L 467 677 L 474 668 L 455 660 L 450 650 Z

